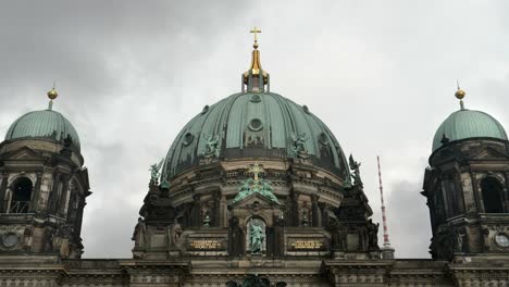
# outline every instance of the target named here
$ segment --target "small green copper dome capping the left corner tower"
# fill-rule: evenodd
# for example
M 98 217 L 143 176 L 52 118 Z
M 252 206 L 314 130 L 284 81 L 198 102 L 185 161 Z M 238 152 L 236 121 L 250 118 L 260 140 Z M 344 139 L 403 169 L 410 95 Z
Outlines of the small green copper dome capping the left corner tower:
M 45 138 L 63 141 L 67 135 L 71 147 L 79 152 L 79 137 L 71 122 L 52 110 L 34 111 L 22 115 L 9 128 L 5 140 Z

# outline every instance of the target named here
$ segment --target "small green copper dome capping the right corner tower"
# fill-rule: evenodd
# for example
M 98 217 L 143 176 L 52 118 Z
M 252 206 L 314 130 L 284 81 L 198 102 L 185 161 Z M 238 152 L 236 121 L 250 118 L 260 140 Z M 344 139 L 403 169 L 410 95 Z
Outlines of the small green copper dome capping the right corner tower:
M 487 113 L 459 110 L 447 117 L 438 127 L 433 139 L 433 151 L 443 146 L 443 138 L 449 141 L 467 138 L 496 138 L 507 140 L 504 127 Z

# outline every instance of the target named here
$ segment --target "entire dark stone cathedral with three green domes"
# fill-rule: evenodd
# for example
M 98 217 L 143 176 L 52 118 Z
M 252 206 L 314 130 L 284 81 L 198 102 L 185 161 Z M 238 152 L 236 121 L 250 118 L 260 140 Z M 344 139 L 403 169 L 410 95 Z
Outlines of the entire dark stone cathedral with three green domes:
M 371 219 L 361 164 L 306 105 L 271 91 L 251 32 L 240 90 L 197 111 L 150 167 L 132 259 L 82 259 L 86 154 L 54 88 L 48 109 L 3 132 L 1 287 L 509 286 L 509 140 L 497 120 L 467 109 L 458 87 L 423 171 L 431 259 L 395 258 L 386 234 L 377 240 L 385 224 Z

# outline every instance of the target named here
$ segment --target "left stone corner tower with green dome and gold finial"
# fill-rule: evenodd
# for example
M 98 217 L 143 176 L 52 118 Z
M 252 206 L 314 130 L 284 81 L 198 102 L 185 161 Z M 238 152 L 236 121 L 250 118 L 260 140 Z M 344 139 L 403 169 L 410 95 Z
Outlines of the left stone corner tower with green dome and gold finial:
M 0 260 L 18 254 L 79 258 L 90 195 L 79 137 L 53 110 L 22 115 L 0 144 Z

